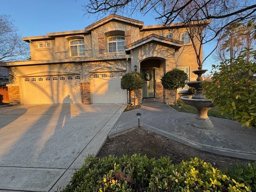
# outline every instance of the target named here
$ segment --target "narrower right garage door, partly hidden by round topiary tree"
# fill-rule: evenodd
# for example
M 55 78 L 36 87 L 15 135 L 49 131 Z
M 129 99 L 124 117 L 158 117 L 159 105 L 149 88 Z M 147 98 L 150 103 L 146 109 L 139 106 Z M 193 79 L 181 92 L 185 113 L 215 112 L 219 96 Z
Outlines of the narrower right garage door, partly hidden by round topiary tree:
M 127 103 L 126 90 L 120 87 L 124 72 L 90 74 L 92 103 Z

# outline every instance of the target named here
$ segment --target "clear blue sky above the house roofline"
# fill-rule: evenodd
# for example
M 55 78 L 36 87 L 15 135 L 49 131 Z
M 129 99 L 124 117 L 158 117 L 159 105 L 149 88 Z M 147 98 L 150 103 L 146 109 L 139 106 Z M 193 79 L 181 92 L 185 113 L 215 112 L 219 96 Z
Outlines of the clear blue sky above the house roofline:
M 46 33 L 83 30 L 86 26 L 108 15 L 84 15 L 82 5 L 87 0 L 0 0 L 0 14 L 9 15 L 22 37 L 44 36 Z M 125 16 L 125 15 L 124 15 Z M 144 22 L 144 25 L 159 24 L 152 14 L 140 13 L 131 18 Z M 204 45 L 204 55 L 211 50 L 211 44 Z M 203 64 L 211 71 L 211 58 Z

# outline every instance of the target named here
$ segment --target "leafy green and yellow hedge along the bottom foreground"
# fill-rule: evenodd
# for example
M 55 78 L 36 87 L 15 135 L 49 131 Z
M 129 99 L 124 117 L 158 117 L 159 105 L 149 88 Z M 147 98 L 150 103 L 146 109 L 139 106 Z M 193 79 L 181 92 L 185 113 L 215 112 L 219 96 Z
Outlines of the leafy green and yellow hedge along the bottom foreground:
M 256 162 L 222 171 L 198 158 L 172 164 L 170 157 L 134 154 L 88 156 L 63 192 L 250 192 L 255 185 Z

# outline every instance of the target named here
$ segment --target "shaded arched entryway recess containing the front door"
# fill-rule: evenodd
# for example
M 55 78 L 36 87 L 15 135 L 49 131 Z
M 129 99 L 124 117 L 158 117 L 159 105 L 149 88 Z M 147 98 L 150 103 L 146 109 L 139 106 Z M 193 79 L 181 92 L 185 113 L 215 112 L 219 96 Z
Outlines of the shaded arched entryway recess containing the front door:
M 144 77 L 142 98 L 163 98 L 160 77 L 164 74 L 164 66 L 165 60 L 163 58 L 146 58 L 140 62 L 140 72 Z

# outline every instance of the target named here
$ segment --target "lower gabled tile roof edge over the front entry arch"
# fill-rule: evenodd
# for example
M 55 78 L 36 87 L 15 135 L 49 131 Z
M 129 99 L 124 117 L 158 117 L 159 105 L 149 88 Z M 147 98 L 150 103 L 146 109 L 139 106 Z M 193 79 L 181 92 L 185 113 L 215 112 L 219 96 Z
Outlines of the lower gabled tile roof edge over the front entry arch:
M 171 39 L 171 38 L 167 38 L 167 37 L 164 37 L 164 36 L 160 36 L 160 35 L 157 35 L 157 34 L 150 34 L 138 41 L 135 41 L 127 46 L 124 47 L 124 50 L 125 51 L 130 51 L 136 47 L 139 47 L 139 46 L 142 46 L 143 44 L 146 44 L 150 41 L 157 41 L 157 42 L 161 42 L 161 43 L 164 43 L 164 44 L 168 44 L 168 45 L 172 45 L 175 47 L 175 50 L 178 50 L 180 47 L 183 46 L 183 42 L 182 41 L 179 41 L 179 40 L 174 40 L 174 39 Z

